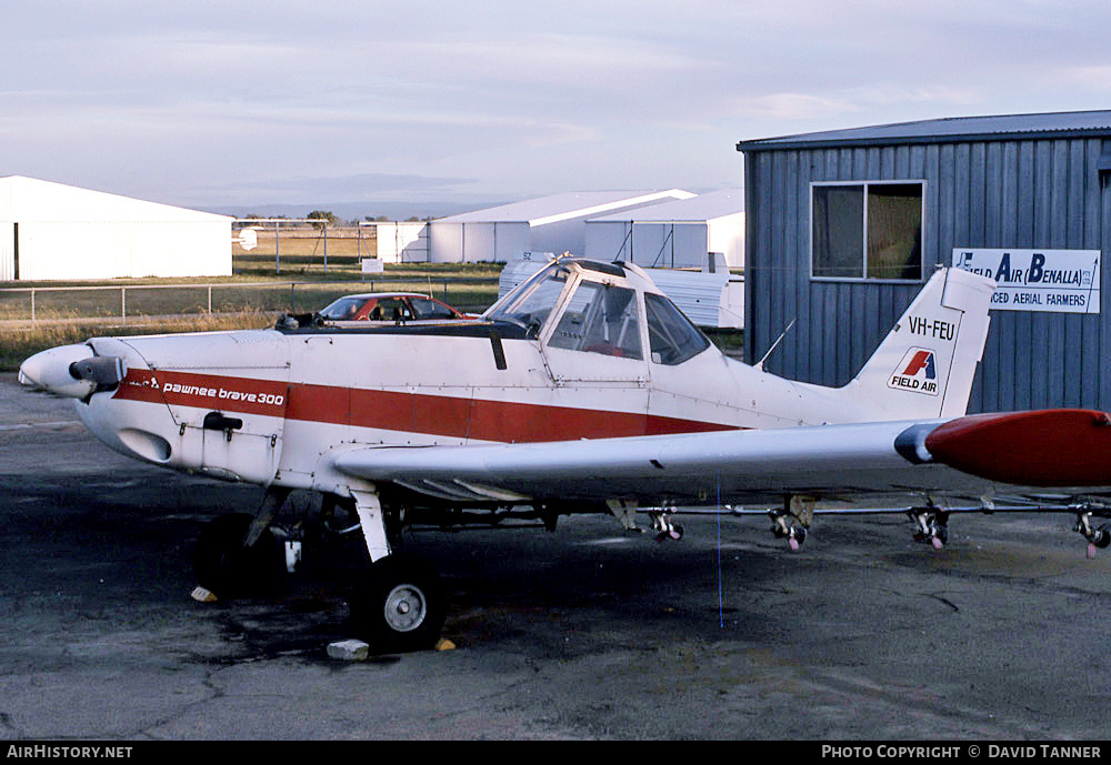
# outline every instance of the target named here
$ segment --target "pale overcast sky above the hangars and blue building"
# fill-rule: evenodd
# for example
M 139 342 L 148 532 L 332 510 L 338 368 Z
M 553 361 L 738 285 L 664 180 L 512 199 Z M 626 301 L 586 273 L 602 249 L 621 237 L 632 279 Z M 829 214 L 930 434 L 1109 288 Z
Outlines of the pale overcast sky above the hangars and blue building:
M 0 175 L 207 209 L 701 192 L 740 140 L 1111 108 L 1108 0 L 0 8 Z

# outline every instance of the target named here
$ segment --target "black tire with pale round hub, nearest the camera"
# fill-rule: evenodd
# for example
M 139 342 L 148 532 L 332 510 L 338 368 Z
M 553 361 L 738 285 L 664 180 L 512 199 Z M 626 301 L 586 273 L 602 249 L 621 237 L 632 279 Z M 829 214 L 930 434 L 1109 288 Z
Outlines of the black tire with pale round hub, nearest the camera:
M 412 555 L 388 555 L 371 566 L 351 598 L 356 634 L 378 653 L 431 648 L 440 637 L 448 598 L 439 574 Z

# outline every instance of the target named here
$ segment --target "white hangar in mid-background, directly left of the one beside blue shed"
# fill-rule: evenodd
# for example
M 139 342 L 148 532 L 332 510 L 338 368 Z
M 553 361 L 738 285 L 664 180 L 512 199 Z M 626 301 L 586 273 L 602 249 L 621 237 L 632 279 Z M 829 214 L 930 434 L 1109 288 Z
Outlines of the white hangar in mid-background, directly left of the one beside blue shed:
M 690 199 L 668 191 L 585 191 L 477 210 L 424 224 L 380 223 L 378 255 L 388 263 L 473 263 L 520 260 L 524 252 L 585 251 L 585 222 L 663 201 Z

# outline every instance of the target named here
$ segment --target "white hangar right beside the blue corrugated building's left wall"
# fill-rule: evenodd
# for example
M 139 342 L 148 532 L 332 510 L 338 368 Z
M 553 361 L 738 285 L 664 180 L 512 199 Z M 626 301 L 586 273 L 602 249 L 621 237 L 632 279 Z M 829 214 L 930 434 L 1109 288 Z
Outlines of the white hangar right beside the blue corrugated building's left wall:
M 592 218 L 585 255 L 643 268 L 687 269 L 707 264 L 707 253 L 744 266 L 744 192 L 727 189 L 690 199 Z

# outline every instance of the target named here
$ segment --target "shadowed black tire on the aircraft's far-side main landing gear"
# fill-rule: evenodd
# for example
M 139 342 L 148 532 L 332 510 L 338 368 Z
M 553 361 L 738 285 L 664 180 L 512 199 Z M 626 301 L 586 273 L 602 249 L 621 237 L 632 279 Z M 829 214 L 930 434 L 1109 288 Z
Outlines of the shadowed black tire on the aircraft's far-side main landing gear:
M 269 529 L 254 545 L 243 546 L 251 521 L 246 513 L 221 515 L 197 537 L 197 583 L 220 600 L 272 595 L 281 583 L 286 556 Z

